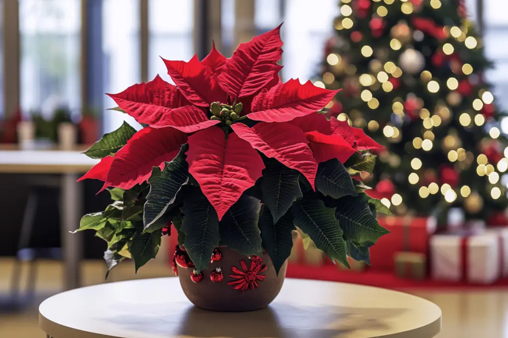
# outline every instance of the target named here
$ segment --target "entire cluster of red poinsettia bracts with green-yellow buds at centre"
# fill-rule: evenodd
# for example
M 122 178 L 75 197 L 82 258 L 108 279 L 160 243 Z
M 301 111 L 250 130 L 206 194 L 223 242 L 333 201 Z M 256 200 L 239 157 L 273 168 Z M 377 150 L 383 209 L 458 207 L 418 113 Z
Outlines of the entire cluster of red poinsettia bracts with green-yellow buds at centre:
M 104 180 L 103 189 L 130 189 L 188 143 L 189 173 L 221 219 L 261 177 L 265 166 L 258 151 L 300 171 L 314 187 L 318 163 L 344 162 L 357 150 L 378 147 L 360 129 L 317 113 L 336 90 L 310 81 L 280 82 L 279 31 L 280 26 L 240 44 L 229 59 L 215 46 L 201 62 L 197 56 L 188 62 L 163 59 L 176 86 L 157 76 L 108 94 L 149 127 L 83 178 Z

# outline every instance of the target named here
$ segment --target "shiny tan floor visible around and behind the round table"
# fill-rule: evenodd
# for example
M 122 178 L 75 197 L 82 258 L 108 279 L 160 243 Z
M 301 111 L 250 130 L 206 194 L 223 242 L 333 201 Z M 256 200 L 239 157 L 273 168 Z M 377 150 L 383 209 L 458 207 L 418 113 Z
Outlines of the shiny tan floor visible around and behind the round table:
M 12 260 L 0 259 L 0 295 L 5 295 L 8 290 L 11 270 Z M 86 261 L 82 271 L 84 285 L 104 281 L 102 261 Z M 161 262 L 151 261 L 137 275 L 131 264 L 123 263 L 112 272 L 110 280 L 170 275 L 170 269 Z M 59 262 L 42 262 L 37 279 L 37 304 L 17 314 L 0 312 L 0 338 L 45 338 L 38 328 L 37 306 L 45 297 L 59 292 L 61 280 L 62 266 Z M 508 290 L 411 292 L 441 308 L 443 325 L 438 338 L 508 338 Z

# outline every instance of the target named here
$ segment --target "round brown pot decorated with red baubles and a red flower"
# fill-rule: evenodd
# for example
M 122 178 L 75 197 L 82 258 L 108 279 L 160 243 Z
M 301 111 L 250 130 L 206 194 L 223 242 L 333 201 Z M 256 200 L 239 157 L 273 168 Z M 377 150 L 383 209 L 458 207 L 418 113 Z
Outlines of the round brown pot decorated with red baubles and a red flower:
M 277 276 L 266 252 L 261 260 L 257 260 L 260 257 L 249 259 L 227 247 L 217 250 L 220 260 L 211 262 L 208 269 L 202 271 L 203 278 L 198 282 L 191 278 L 192 267 L 178 266 L 178 278 L 189 301 L 198 308 L 212 311 L 252 311 L 267 307 L 282 287 L 287 261 Z M 218 281 L 220 273 L 224 278 Z

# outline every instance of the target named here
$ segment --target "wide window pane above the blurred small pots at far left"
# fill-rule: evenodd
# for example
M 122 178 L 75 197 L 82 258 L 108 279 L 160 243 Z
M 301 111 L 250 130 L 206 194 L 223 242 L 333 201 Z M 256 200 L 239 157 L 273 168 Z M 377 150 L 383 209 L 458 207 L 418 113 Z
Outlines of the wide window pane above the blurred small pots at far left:
M 21 109 L 80 114 L 80 0 L 19 0 Z

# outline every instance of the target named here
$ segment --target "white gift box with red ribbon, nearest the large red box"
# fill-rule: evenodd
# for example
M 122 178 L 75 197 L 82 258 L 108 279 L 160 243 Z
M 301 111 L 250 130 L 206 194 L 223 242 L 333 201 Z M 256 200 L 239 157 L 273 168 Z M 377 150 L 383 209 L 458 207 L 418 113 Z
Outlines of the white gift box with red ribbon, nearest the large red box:
M 500 276 L 499 238 L 487 233 L 434 235 L 430 259 L 434 279 L 490 284 Z

